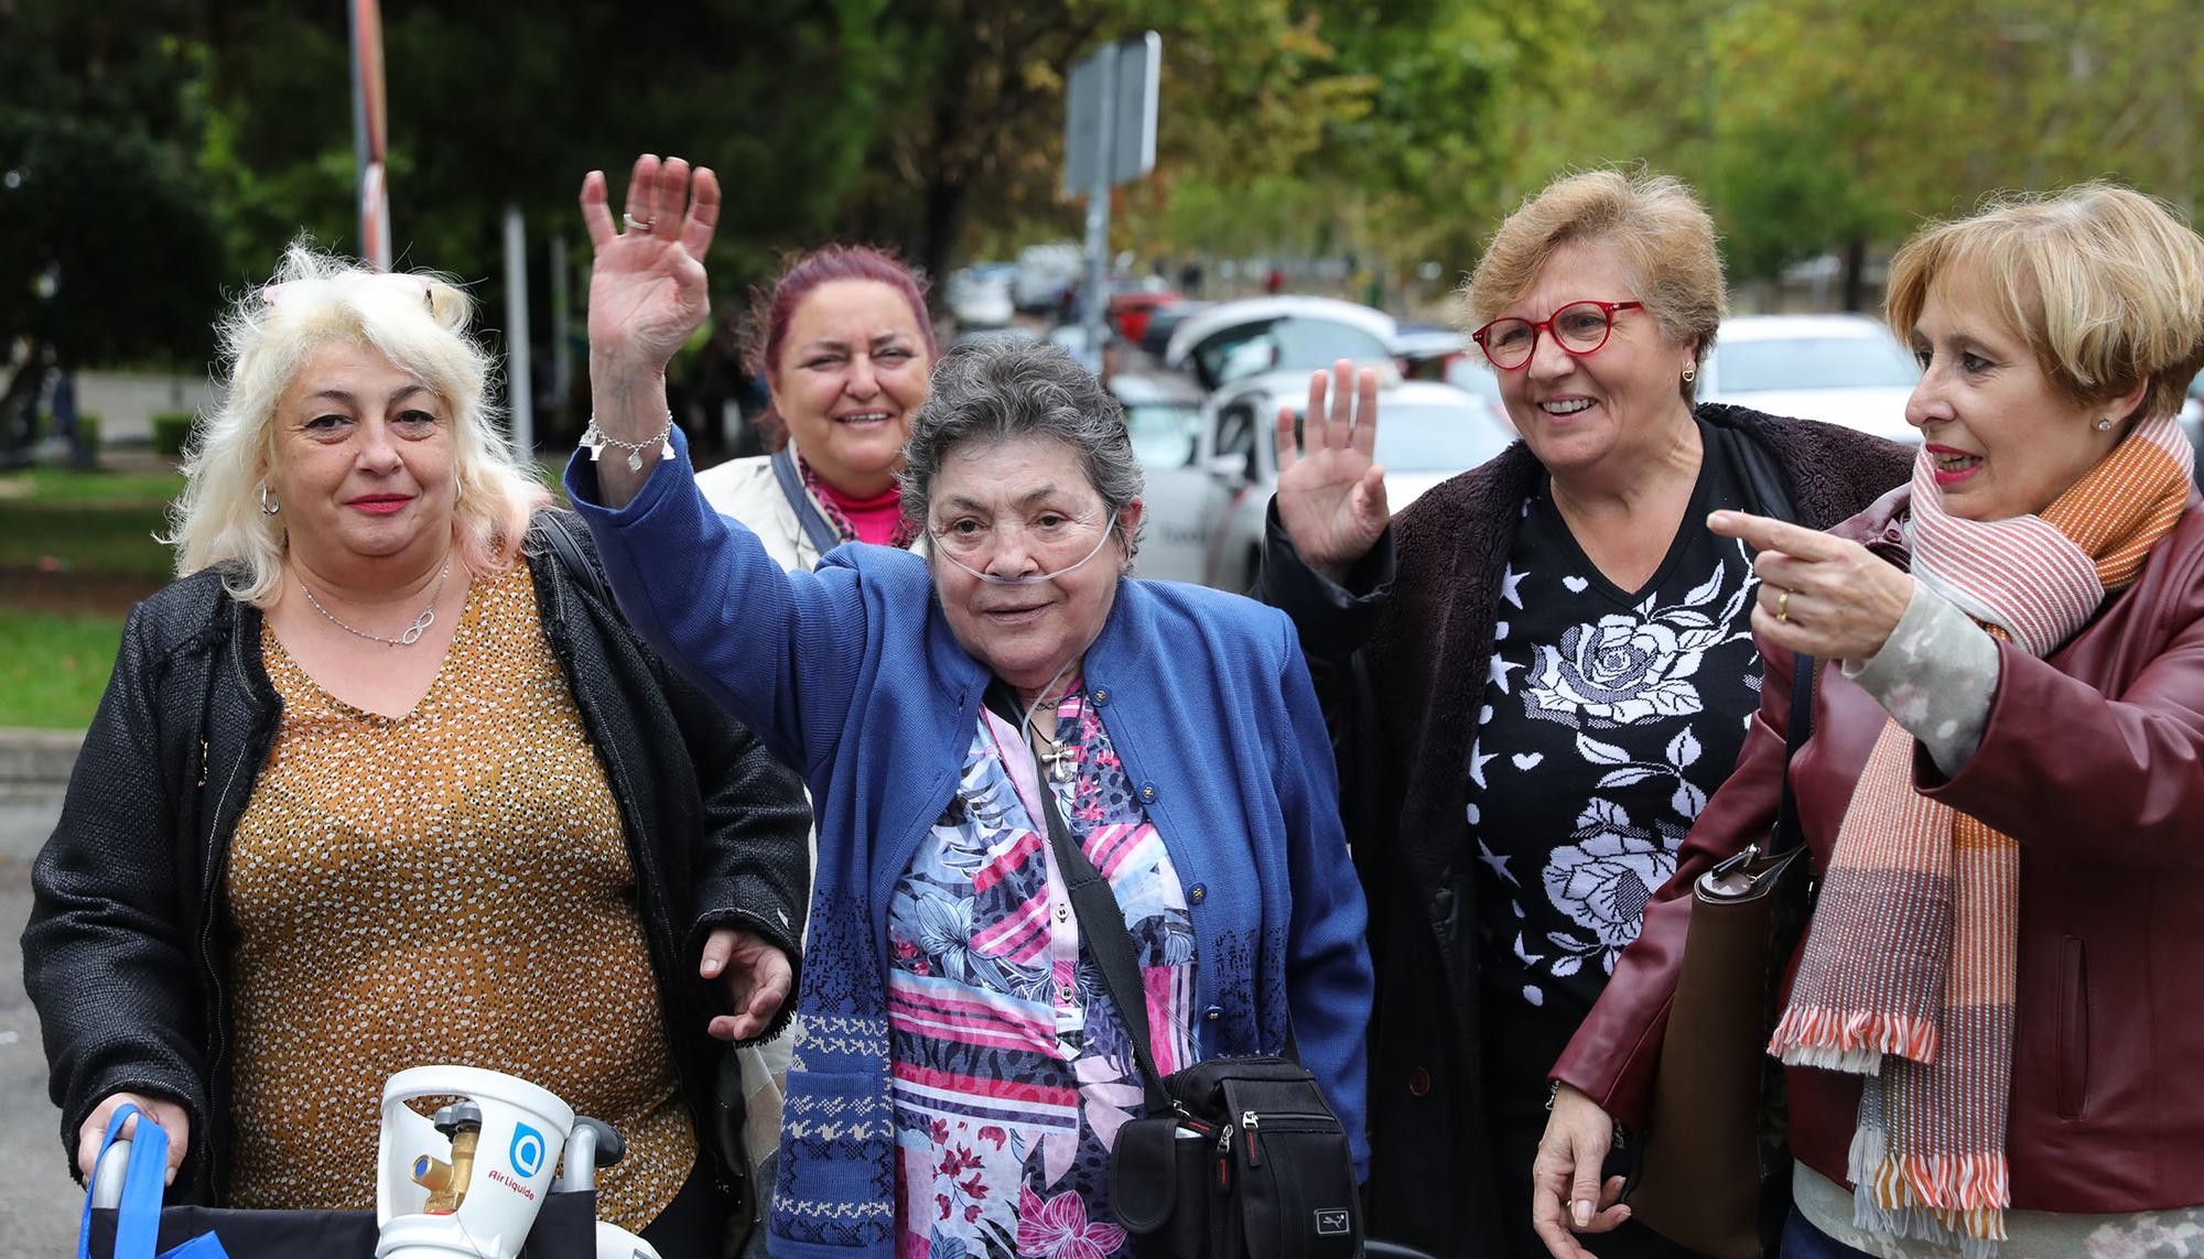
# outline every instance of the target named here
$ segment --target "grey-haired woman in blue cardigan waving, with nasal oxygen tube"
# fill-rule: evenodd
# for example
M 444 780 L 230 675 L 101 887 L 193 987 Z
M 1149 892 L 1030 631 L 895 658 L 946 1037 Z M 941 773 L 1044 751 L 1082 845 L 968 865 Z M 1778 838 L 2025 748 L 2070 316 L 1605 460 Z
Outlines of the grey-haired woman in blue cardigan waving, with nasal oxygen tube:
M 1292 625 L 1126 577 L 1142 475 L 1120 409 L 1034 346 L 937 370 L 904 484 L 919 555 L 851 544 L 782 572 L 696 491 L 666 412 L 716 211 L 679 158 L 637 161 L 624 229 L 584 180 L 595 420 L 566 489 L 635 627 L 811 781 L 769 1248 L 1131 1252 L 1106 1167 L 1142 1085 L 1051 803 L 1124 911 L 1159 1070 L 1281 1052 L 1292 1028 L 1360 1167 L 1364 907 Z M 882 337 L 853 310 L 796 348 L 846 381 L 835 423 L 879 423 Z

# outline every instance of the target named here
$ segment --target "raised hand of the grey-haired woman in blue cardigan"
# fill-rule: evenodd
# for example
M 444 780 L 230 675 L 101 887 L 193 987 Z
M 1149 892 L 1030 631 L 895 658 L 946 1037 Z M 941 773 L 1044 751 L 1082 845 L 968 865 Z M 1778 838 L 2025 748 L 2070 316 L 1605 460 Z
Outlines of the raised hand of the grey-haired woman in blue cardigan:
M 628 178 L 626 229 L 615 229 L 604 172 L 582 178 L 582 222 L 597 260 L 588 273 L 591 370 L 661 374 L 712 313 L 703 253 L 719 227 L 719 176 L 677 156 L 644 154 Z

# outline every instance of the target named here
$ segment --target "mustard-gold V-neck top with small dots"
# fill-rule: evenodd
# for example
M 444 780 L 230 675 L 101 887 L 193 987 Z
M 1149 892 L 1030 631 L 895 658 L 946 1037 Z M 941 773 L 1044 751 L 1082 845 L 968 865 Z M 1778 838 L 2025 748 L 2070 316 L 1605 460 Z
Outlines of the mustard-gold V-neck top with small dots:
M 229 850 L 231 1204 L 372 1211 L 383 1081 L 461 1063 L 611 1123 L 597 1213 L 641 1228 L 696 1160 L 611 786 L 527 563 L 467 592 L 406 718 L 273 634 L 282 726 Z

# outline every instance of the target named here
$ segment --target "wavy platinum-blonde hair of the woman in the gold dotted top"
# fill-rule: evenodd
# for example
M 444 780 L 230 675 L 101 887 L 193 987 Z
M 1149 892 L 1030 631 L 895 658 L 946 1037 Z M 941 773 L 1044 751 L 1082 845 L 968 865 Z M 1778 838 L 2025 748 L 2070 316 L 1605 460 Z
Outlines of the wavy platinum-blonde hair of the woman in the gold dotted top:
M 452 541 L 478 577 L 507 568 L 529 513 L 551 495 L 496 427 L 489 354 L 467 332 L 472 315 L 474 302 L 441 275 L 368 271 L 295 242 L 276 280 L 240 295 L 216 328 L 216 401 L 185 451 L 185 486 L 163 539 L 176 548 L 176 574 L 220 566 L 231 596 L 276 603 L 287 533 L 282 515 L 260 511 L 276 460 L 276 403 L 326 341 L 375 350 L 445 401 L 458 480 Z

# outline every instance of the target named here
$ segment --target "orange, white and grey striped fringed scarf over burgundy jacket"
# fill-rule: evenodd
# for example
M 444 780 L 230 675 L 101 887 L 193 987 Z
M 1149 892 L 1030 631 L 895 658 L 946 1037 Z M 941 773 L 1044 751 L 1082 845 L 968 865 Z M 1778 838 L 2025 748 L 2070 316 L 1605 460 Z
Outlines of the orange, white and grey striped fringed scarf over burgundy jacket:
M 2189 440 L 2136 425 L 2041 515 L 1957 519 L 1913 464 L 1913 577 L 2048 656 L 2136 581 L 2189 502 Z M 1770 1052 L 1867 1076 L 1854 1222 L 1990 1259 L 2012 1204 L 2006 1107 L 2021 847 L 1913 790 L 1915 744 L 1882 726 L 1823 878 Z

